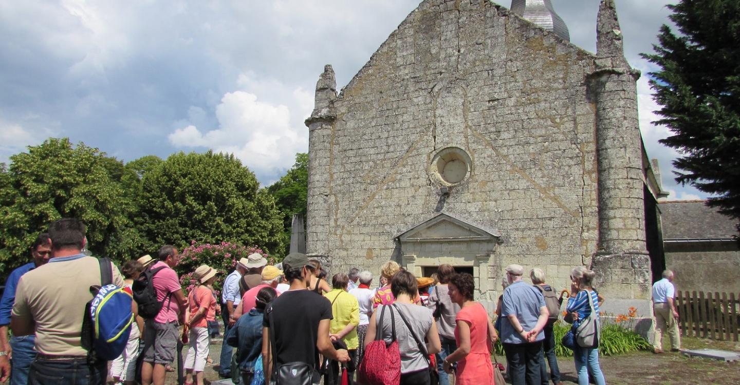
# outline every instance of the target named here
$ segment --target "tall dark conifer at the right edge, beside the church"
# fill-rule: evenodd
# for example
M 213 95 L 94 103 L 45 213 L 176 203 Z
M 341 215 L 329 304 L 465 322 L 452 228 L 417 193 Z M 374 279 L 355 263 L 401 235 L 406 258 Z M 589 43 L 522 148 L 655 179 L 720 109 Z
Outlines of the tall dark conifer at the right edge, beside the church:
M 653 98 L 679 151 L 676 181 L 715 194 L 708 204 L 740 219 L 740 1 L 681 0 L 667 5 L 679 33 L 663 25 L 654 54 L 643 58 Z

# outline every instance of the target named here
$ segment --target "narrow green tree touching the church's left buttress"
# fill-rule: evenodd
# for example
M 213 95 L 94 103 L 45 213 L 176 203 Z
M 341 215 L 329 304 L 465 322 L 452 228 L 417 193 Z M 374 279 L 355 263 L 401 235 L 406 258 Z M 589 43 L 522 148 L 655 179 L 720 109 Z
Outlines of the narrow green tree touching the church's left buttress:
M 309 194 L 309 154 L 295 154 L 295 164 L 277 182 L 267 188 L 275 197 L 280 214 L 283 216 L 283 233 L 286 242 L 290 242 L 290 227 L 293 214 L 306 217 L 306 201 Z

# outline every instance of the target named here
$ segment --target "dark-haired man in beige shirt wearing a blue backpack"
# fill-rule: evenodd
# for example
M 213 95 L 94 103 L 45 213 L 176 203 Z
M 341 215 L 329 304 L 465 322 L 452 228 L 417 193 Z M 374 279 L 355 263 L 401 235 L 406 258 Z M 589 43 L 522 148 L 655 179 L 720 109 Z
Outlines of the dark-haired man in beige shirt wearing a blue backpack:
M 10 328 L 13 335 L 36 333 L 36 361 L 29 382 L 105 384 L 107 362 L 87 362 L 81 347 L 85 305 L 92 299 L 90 286 L 101 285 L 98 259 L 82 253 L 87 239 L 82 222 L 59 219 L 49 227 L 52 258 L 25 273 L 16 290 Z M 112 266 L 113 284 L 124 285 Z

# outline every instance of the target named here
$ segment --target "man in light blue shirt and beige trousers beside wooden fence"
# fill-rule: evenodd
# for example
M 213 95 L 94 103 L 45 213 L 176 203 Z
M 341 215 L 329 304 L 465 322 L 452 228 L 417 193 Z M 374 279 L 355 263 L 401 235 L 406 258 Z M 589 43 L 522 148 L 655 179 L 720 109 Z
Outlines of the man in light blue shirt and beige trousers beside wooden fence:
M 681 350 L 681 335 L 679 324 L 679 311 L 676 310 L 676 289 L 673 287 L 673 271 L 665 270 L 663 279 L 653 284 L 653 311 L 655 313 L 655 341 L 653 352 L 663 352 L 663 334 L 670 336 L 670 351 Z

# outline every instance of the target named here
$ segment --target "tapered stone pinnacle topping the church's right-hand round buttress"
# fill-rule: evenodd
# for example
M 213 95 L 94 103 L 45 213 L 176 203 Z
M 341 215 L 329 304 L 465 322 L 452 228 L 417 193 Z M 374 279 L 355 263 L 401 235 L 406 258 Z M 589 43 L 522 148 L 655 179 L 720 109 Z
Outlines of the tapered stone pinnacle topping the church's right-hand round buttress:
M 614 0 L 602 0 L 596 21 L 596 58 L 599 67 L 629 68 L 625 59 L 622 29 Z

